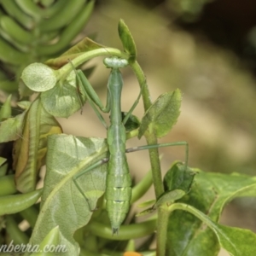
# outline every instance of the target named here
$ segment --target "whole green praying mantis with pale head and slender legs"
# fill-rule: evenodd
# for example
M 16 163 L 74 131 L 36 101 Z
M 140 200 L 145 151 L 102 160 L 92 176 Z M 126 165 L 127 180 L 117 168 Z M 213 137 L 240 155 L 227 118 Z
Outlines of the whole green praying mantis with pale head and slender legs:
M 70 62 L 72 65 L 73 63 Z M 106 107 L 103 106 L 99 97 L 96 95 L 95 90 L 93 90 L 89 81 L 85 78 L 84 73 L 80 70 L 75 70 L 77 73 L 77 79 L 79 81 L 81 88 L 84 88 L 84 94 L 86 95 L 91 107 L 95 110 L 97 116 L 102 121 L 102 124 L 107 127 L 105 120 L 102 118 L 101 113 L 96 108 L 101 109 L 103 113 L 110 113 L 110 125 L 107 132 L 107 143 L 108 143 L 108 158 L 100 160 L 90 166 L 84 172 L 89 172 L 108 162 L 107 168 L 107 188 L 105 192 L 106 198 L 106 208 L 108 211 L 108 217 L 112 226 L 113 234 L 118 233 L 119 226 L 124 221 L 127 212 L 130 208 L 131 200 L 131 175 L 129 172 L 129 167 L 126 160 L 126 153 L 134 152 L 137 150 L 143 150 L 148 148 L 160 148 L 168 147 L 174 145 L 185 145 L 186 150 L 186 165 L 188 158 L 188 143 L 178 142 L 178 143 L 164 143 L 156 145 L 146 145 L 137 148 L 125 149 L 126 143 L 126 131 L 125 123 L 131 117 L 131 113 L 136 108 L 141 92 L 137 97 L 137 100 L 131 106 L 129 112 L 125 115 L 125 119 L 122 119 L 122 112 L 120 107 L 121 91 L 123 87 L 122 75 L 119 68 L 126 67 L 128 61 L 125 59 L 120 59 L 117 57 L 107 57 L 104 59 L 104 64 L 106 67 L 111 68 L 111 73 L 108 79 L 108 96 Z M 73 182 L 79 189 L 81 194 L 84 196 L 85 200 L 88 201 L 84 195 L 83 189 L 80 187 L 77 179 L 84 175 L 84 172 L 80 172 L 73 177 Z

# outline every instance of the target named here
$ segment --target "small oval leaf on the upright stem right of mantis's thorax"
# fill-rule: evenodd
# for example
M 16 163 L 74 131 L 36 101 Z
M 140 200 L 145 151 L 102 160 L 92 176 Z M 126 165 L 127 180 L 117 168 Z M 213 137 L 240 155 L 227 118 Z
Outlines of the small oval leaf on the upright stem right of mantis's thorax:
M 181 92 L 178 89 L 159 96 L 144 114 L 138 138 L 147 130 L 155 133 L 157 137 L 164 137 L 177 122 L 181 100 Z

